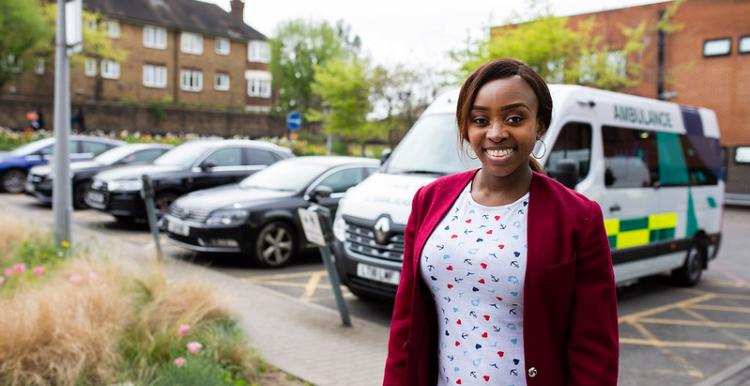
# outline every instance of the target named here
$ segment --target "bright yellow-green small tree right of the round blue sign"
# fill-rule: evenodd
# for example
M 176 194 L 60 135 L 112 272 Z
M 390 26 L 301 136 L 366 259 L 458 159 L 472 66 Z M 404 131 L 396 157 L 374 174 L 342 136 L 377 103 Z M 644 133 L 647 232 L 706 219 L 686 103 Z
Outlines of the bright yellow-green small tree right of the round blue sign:
M 327 134 L 364 143 L 382 137 L 382 126 L 371 124 L 367 114 L 370 80 L 366 65 L 356 58 L 329 60 L 316 65 L 312 92 L 319 96 L 321 110 L 311 109 L 307 118 L 323 123 Z

